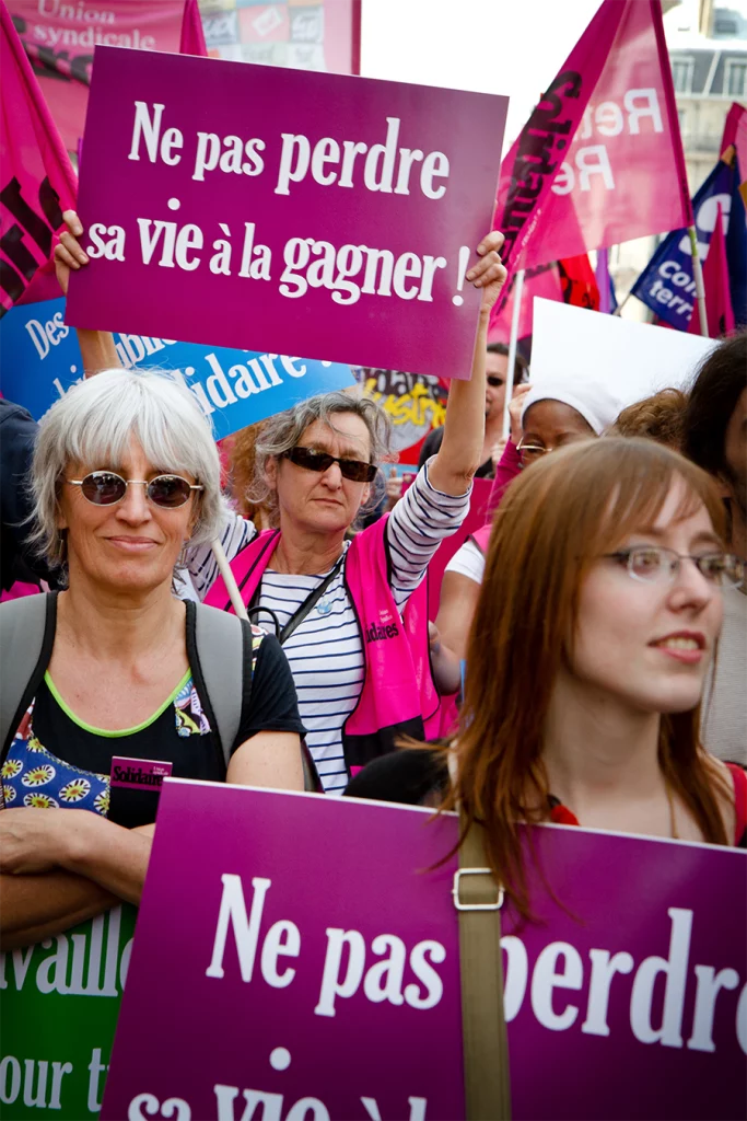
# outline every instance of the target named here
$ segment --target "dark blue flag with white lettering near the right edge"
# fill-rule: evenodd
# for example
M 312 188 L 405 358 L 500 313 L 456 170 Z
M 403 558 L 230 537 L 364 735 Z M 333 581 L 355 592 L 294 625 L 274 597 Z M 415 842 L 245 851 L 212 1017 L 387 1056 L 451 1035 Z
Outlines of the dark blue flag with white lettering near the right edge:
M 738 230 L 739 219 L 741 219 L 744 237 L 745 209 L 741 205 L 741 200 L 739 200 L 741 213 L 732 214 L 735 182 L 739 182 L 735 169 L 719 160 L 692 200 L 698 232 L 698 253 L 701 260 L 706 260 L 708 257 L 719 205 L 721 206 L 723 231 L 727 239 L 732 222 Z M 729 271 L 731 272 L 730 258 Z M 747 281 L 747 277 L 745 279 Z M 747 285 L 745 293 L 747 295 Z M 692 251 L 687 230 L 674 230 L 664 238 L 647 267 L 636 280 L 632 295 L 637 296 L 646 307 L 650 307 L 660 319 L 664 319 L 670 326 L 678 327 L 680 331 L 688 330 L 695 305 L 695 281 L 692 275 Z M 735 315 L 737 315 L 736 306 Z M 739 317 L 737 316 L 737 318 Z

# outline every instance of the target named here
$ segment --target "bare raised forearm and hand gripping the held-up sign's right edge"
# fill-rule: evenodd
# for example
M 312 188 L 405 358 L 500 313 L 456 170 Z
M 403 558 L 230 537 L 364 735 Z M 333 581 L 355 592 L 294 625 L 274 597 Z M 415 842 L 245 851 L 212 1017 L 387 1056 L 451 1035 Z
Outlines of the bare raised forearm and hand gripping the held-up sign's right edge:
M 485 438 L 485 350 L 491 309 L 506 279 L 499 249 L 503 234 L 494 230 L 477 247 L 479 260 L 467 272 L 467 280 L 483 289 L 479 323 L 475 339 L 471 378 L 454 379 L 443 423 L 440 450 L 429 466 L 429 479 L 443 494 L 464 494 L 480 463 Z

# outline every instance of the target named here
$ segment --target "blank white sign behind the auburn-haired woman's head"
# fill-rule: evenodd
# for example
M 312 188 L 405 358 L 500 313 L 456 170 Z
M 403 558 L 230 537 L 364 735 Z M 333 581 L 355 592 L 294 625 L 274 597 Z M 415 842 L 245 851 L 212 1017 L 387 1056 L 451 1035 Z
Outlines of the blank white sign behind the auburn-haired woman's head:
M 534 300 L 532 385 L 604 386 L 620 409 L 660 389 L 687 389 L 716 341 L 554 300 Z

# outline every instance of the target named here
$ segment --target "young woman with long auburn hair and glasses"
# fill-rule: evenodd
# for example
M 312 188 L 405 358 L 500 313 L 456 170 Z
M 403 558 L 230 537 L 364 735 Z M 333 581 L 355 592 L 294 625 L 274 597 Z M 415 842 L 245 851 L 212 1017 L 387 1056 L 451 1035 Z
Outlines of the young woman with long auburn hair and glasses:
M 520 823 L 739 843 L 747 776 L 699 738 L 722 596 L 744 576 L 723 529 L 710 478 L 651 441 L 547 456 L 495 517 L 451 750 L 377 760 L 348 794 L 440 785 L 438 804 L 486 826 L 523 914 Z

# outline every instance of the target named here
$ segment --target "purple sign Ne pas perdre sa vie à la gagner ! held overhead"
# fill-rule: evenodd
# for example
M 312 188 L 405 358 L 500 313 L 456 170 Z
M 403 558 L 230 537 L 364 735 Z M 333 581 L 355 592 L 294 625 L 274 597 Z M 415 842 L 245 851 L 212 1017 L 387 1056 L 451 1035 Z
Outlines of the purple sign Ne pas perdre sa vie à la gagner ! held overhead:
M 68 322 L 466 378 L 506 104 L 96 48 Z

